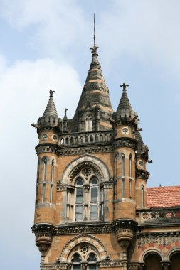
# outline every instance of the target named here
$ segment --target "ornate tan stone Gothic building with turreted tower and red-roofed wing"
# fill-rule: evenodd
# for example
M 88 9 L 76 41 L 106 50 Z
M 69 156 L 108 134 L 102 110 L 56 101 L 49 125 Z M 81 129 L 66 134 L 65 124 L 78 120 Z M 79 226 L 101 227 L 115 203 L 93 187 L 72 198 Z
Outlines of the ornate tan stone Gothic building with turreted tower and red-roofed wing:
M 122 84 L 113 112 L 97 46 L 73 119 L 53 91 L 36 127 L 41 270 L 180 269 L 180 186 L 147 188 L 149 149 Z

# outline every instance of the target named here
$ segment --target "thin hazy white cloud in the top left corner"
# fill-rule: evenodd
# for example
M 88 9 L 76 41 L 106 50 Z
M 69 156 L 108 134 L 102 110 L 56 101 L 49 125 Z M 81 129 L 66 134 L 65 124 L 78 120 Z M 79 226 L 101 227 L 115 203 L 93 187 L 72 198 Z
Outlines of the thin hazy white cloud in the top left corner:
M 83 8 L 73 0 L 4 0 L 0 10 L 1 16 L 18 31 L 33 28 L 28 38 L 31 48 L 60 60 L 70 55 L 69 46 L 79 46 L 79 37 L 88 25 Z

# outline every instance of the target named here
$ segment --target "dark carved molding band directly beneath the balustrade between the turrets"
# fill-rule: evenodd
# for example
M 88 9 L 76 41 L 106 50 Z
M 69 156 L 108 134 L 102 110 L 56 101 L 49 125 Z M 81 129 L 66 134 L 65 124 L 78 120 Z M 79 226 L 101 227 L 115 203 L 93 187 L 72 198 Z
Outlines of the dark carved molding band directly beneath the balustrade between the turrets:
M 67 155 L 76 155 L 76 154 L 85 154 L 85 153 L 110 153 L 113 152 L 112 145 L 105 145 L 105 146 L 89 146 L 89 147 L 67 147 L 67 148 L 60 148 L 58 150 L 59 156 L 67 156 Z

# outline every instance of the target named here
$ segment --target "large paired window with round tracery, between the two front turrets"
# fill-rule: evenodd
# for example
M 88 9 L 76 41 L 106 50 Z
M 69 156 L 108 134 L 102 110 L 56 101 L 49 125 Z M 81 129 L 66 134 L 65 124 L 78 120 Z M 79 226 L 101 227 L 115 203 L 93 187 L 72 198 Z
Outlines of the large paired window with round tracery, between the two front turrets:
M 103 188 L 100 175 L 94 168 L 80 168 L 72 180 L 67 193 L 68 221 L 102 220 Z

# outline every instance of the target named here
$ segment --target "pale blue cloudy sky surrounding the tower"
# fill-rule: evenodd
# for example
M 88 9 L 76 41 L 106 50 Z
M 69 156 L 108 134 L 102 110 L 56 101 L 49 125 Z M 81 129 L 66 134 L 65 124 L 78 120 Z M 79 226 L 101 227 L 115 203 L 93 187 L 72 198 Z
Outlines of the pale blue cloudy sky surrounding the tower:
M 1 269 L 39 269 L 31 233 L 48 90 L 72 118 L 91 61 L 93 13 L 112 107 L 127 94 L 149 147 L 148 186 L 179 185 L 179 0 L 0 0 Z

